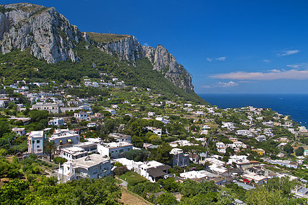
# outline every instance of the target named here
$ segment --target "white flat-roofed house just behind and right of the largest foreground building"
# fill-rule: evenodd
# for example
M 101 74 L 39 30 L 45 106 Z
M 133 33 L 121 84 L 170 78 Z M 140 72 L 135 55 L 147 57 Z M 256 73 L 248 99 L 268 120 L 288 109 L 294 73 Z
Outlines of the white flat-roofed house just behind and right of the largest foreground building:
M 97 152 L 99 154 L 105 154 L 110 156 L 112 159 L 121 158 L 124 156 L 124 152 L 133 150 L 133 145 L 127 142 L 112 142 L 112 143 L 101 143 L 97 146 Z

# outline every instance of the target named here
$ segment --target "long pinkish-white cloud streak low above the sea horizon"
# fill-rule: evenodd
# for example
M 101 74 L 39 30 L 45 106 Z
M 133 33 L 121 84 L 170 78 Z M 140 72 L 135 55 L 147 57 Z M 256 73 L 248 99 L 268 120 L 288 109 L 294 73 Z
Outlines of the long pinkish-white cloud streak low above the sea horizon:
M 213 79 L 233 80 L 278 80 L 278 79 L 308 79 L 308 70 L 271 70 L 270 72 L 230 72 L 211 75 Z

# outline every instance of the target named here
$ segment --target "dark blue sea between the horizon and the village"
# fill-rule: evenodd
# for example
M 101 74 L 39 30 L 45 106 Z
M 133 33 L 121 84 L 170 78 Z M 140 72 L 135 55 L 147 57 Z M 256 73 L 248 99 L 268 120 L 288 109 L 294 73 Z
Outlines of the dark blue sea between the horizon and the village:
M 308 94 L 198 94 L 219 108 L 270 108 L 308 127 Z

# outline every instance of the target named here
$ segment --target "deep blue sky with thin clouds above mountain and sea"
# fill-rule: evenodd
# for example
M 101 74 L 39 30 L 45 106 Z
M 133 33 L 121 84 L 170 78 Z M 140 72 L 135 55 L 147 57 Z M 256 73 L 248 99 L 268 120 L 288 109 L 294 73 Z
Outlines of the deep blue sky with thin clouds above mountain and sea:
M 308 93 L 308 1 L 28 2 L 55 7 L 81 31 L 162 44 L 199 94 Z

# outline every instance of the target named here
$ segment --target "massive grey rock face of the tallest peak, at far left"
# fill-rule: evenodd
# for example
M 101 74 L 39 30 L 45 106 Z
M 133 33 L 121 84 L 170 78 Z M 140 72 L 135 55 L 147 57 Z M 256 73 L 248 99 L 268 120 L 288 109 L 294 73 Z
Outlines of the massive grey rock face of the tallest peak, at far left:
M 12 49 L 29 48 L 38 59 L 48 63 L 78 60 L 74 44 L 83 38 L 76 26 L 59 14 L 55 8 L 45 8 L 30 3 L 4 5 L 0 14 L 0 49 L 8 53 Z

